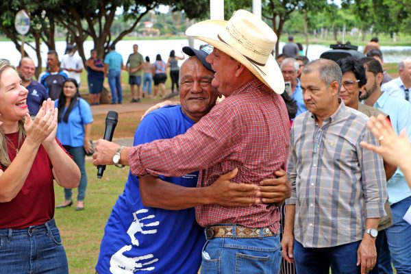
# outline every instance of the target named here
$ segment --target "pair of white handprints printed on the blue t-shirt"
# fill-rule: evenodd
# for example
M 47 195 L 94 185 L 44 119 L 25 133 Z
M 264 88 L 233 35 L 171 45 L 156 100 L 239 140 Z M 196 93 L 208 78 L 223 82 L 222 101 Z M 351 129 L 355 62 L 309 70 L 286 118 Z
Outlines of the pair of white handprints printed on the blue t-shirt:
M 133 213 L 134 221 L 127 229 L 127 234 L 130 237 L 132 245 L 125 245 L 119 251 L 114 253 L 110 258 L 110 272 L 113 274 L 126 274 L 126 273 L 136 273 L 137 271 L 152 271 L 155 269 L 155 266 L 150 266 L 154 262 L 157 262 L 158 259 L 153 259 L 153 254 L 147 254 L 145 256 L 138 256 L 130 258 L 124 255 L 125 252 L 130 251 L 133 246 L 138 247 L 139 242 L 136 238 L 137 233 L 141 234 L 155 234 L 157 229 L 148 229 L 144 230 L 146 227 L 157 227 L 160 222 L 153 221 L 154 215 L 145 214 L 149 210 L 143 208 L 142 210 L 137 210 Z M 147 216 L 145 216 L 147 215 Z M 139 219 L 140 217 L 140 219 Z M 153 260 L 149 260 L 153 259 Z

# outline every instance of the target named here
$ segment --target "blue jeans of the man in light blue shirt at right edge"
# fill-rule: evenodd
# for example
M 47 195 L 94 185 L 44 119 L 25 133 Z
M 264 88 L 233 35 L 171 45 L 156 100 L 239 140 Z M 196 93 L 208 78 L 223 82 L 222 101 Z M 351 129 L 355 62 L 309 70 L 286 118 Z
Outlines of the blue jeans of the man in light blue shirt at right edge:
M 386 229 L 391 260 L 398 274 L 411 273 L 411 225 L 403 216 L 411 206 L 411 197 L 391 205 L 393 226 Z

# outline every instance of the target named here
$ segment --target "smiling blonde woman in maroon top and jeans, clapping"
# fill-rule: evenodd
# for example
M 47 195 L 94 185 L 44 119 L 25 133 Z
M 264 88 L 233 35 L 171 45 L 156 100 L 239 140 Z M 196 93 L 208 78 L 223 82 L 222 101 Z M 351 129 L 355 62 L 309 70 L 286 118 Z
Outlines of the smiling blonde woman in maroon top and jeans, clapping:
M 55 138 L 57 110 L 42 103 L 34 120 L 27 89 L 0 61 L 0 273 L 69 273 L 54 216 L 53 179 L 65 188 L 80 172 Z

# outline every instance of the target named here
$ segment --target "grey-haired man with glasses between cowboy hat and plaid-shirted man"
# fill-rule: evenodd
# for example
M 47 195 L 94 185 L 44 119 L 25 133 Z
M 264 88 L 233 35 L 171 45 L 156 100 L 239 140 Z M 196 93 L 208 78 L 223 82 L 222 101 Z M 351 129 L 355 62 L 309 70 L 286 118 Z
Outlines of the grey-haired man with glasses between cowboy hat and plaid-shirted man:
M 299 70 L 299 63 L 294 58 L 286 58 L 280 65 L 284 82 L 290 83 L 291 91 L 288 95 L 297 102 L 297 114 L 296 116 L 306 112 L 307 108 L 303 101 L 303 90 L 301 90 L 300 80 L 297 78 L 297 72 Z M 286 87 L 287 88 L 287 87 Z M 288 90 L 286 90 L 288 93 Z

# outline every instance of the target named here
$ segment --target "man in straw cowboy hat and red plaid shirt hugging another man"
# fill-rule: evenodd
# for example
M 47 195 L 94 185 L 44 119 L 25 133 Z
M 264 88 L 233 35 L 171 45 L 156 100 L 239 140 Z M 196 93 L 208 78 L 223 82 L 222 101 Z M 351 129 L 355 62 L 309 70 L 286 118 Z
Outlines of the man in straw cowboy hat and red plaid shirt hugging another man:
M 275 177 L 286 164 L 290 127 L 279 95 L 284 79 L 271 55 L 277 36 L 245 10 L 229 21 L 192 25 L 186 34 L 214 46 L 207 58 L 216 72 L 212 86 L 226 98 L 185 134 L 120 149 L 116 162 L 129 164 L 134 175 L 181 176 L 200 170 L 197 186 L 210 186 L 235 168 L 238 175 L 232 182 L 237 184 Z M 113 164 L 118 149 L 99 140 L 93 164 Z M 236 267 L 277 273 L 279 210 L 273 204 L 204 205 L 196 208 L 196 215 L 208 239 L 202 273 L 232 273 Z

